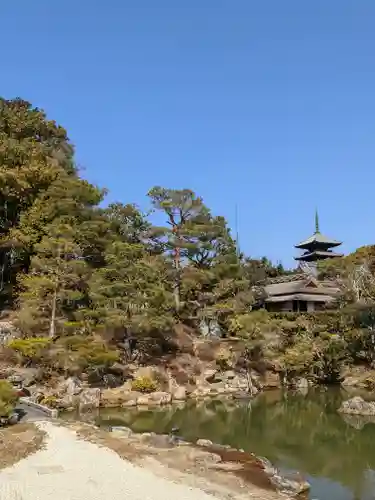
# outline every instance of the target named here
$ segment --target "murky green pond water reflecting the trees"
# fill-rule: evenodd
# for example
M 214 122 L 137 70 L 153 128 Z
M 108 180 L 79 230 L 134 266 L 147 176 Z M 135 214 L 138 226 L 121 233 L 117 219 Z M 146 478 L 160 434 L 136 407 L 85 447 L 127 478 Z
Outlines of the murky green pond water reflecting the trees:
M 270 392 L 250 402 L 211 401 L 157 410 L 103 410 L 102 425 L 136 432 L 179 428 L 187 440 L 210 439 L 243 448 L 309 480 L 310 498 L 375 500 L 375 419 L 337 412 L 347 393 Z

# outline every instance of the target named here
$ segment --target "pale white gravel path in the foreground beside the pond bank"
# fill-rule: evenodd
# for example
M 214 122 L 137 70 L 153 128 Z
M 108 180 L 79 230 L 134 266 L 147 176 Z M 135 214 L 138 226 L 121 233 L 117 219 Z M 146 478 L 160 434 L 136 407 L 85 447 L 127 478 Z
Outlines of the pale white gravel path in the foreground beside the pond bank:
M 0 500 L 213 500 L 50 422 L 44 449 L 0 472 Z M 1 450 L 0 450 L 1 453 Z

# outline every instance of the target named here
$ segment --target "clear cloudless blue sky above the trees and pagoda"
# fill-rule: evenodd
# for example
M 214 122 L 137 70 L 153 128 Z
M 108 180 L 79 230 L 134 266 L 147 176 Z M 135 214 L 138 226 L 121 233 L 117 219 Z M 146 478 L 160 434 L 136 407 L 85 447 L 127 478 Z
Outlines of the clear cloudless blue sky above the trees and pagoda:
M 108 200 L 196 190 L 241 248 L 374 243 L 374 0 L 3 2 L 1 94 L 44 108 Z

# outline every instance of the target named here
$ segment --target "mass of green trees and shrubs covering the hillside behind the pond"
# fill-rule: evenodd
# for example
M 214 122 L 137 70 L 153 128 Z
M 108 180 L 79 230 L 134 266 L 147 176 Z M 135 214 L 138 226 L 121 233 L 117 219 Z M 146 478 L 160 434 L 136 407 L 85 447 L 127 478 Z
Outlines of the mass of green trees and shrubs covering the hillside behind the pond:
M 106 191 L 80 177 L 67 132 L 22 99 L 0 99 L 0 193 L 0 300 L 17 310 L 20 363 L 147 361 L 172 351 L 177 323 L 217 325 L 243 340 L 248 363 L 278 361 L 287 376 L 337 381 L 346 364 L 375 361 L 375 246 L 320 266 L 343 307 L 255 311 L 265 280 L 293 271 L 240 254 L 225 218 L 190 189 L 149 191 L 161 227 L 133 203 L 102 208 Z

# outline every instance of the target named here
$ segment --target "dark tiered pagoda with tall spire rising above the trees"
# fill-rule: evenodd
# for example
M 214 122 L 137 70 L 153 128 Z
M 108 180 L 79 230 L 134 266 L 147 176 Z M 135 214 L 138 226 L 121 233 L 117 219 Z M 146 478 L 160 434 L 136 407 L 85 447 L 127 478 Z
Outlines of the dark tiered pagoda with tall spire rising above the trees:
M 342 257 L 340 253 L 335 253 L 331 248 L 341 245 L 341 241 L 336 241 L 324 236 L 319 230 L 318 212 L 315 212 L 315 233 L 307 238 L 307 240 L 295 245 L 295 248 L 304 250 L 304 253 L 299 257 L 295 257 L 302 263 L 316 263 L 318 260 L 332 259 L 334 257 Z

